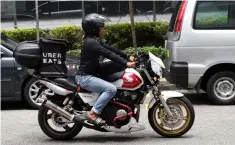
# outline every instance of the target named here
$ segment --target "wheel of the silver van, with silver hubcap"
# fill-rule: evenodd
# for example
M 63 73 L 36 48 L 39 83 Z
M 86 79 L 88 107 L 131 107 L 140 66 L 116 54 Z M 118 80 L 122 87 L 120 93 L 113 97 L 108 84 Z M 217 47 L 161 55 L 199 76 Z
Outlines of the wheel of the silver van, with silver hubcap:
M 215 104 L 235 103 L 235 73 L 218 72 L 207 82 L 207 94 Z

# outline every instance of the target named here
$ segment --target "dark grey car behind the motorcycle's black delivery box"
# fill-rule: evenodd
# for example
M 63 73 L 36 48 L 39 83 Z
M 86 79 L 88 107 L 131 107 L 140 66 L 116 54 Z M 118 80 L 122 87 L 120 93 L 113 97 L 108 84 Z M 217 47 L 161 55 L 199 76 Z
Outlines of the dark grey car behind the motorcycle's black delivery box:
M 35 102 L 39 81 L 32 78 L 28 70 L 18 65 L 13 51 L 19 42 L 1 34 L 1 101 L 25 100 L 32 108 L 37 109 Z M 78 69 L 78 59 L 68 57 L 66 60 L 68 76 L 74 79 Z M 47 90 L 53 93 L 51 90 Z

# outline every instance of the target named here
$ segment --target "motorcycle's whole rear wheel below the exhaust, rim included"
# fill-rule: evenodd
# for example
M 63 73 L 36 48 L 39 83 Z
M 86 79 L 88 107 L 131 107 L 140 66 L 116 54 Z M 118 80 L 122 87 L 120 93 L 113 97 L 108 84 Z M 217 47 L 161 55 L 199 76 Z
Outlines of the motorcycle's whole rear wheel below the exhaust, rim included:
M 78 123 L 69 122 L 44 105 L 39 108 L 38 122 L 42 131 L 55 140 L 71 140 L 83 127 Z

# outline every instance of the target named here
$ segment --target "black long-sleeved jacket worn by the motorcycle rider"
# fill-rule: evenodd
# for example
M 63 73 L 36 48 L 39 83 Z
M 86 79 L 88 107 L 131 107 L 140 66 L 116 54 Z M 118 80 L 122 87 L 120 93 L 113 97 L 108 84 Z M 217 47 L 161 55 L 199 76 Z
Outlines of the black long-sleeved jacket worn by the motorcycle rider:
M 125 53 L 100 39 L 86 37 L 82 44 L 78 74 L 97 76 L 101 57 L 108 58 L 123 66 L 126 66 L 128 58 Z

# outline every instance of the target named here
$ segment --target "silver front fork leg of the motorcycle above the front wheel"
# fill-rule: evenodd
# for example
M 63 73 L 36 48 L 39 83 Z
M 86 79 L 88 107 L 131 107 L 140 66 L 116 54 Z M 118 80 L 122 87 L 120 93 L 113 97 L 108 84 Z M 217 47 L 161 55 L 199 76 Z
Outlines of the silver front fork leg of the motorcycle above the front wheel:
M 167 114 L 170 117 L 173 117 L 173 114 L 171 113 L 168 105 L 166 104 L 165 99 L 162 97 L 161 91 L 156 86 L 153 86 L 152 93 L 153 93 L 153 99 L 155 99 L 155 100 L 159 99 L 161 101 L 163 107 L 166 109 Z

